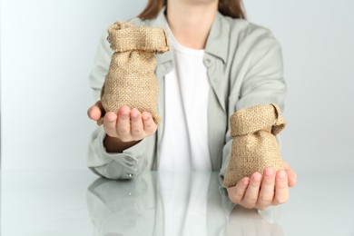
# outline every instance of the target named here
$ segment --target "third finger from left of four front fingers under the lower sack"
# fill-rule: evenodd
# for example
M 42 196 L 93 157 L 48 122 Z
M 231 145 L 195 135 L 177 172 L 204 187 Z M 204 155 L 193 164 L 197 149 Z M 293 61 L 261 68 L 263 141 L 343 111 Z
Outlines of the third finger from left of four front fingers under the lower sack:
M 265 168 L 263 172 L 263 180 L 261 182 L 261 192 L 257 202 L 257 208 L 265 210 L 270 206 L 274 197 L 275 188 L 275 172 L 272 168 Z

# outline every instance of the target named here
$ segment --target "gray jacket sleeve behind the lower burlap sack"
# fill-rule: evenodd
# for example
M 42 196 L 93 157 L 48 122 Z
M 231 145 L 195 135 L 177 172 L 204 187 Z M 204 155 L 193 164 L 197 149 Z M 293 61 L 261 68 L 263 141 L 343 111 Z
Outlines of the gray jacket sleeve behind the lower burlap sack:
M 237 78 L 241 80 L 241 85 L 231 87 L 229 115 L 255 104 L 276 103 L 283 110 L 287 88 L 283 78 L 282 54 L 278 41 L 270 32 L 262 35 L 261 38 L 254 40 L 251 50 L 244 55 L 242 60 L 244 73 Z M 232 90 L 236 90 L 235 93 Z M 277 139 L 280 141 L 279 136 Z M 231 157 L 230 120 L 228 120 L 225 142 L 221 176 L 224 176 Z

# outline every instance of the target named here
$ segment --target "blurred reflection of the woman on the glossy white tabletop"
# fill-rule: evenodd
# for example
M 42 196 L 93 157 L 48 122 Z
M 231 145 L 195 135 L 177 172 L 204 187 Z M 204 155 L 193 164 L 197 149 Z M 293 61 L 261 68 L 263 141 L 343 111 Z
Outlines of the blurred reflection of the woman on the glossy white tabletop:
M 217 172 L 143 172 L 87 190 L 93 235 L 283 235 L 276 208 L 235 206 Z

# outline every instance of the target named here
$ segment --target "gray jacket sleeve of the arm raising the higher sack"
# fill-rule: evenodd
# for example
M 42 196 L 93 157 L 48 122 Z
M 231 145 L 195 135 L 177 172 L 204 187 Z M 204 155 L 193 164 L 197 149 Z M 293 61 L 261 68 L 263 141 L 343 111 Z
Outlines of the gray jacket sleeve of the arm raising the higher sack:
M 106 40 L 108 34 L 103 34 L 97 53 L 93 62 L 93 70 L 89 76 L 89 84 L 93 89 L 94 99 L 99 100 L 99 94 L 108 73 L 109 65 L 113 55 L 112 50 Z M 103 146 L 105 133 L 103 126 L 97 127 L 89 142 L 87 165 L 98 175 L 108 179 L 132 179 L 135 175 L 143 171 L 147 165 L 144 153 L 146 140 L 133 145 L 122 153 L 106 152 Z

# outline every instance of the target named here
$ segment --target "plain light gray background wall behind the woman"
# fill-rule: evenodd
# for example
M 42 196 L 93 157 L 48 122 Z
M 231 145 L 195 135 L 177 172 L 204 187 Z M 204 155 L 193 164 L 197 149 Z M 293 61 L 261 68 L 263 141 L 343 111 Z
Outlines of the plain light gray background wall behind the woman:
M 1 1 L 4 169 L 85 169 L 95 124 L 87 77 L 99 37 L 144 0 Z M 298 172 L 354 167 L 354 1 L 245 1 L 283 49 L 284 160 Z

